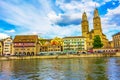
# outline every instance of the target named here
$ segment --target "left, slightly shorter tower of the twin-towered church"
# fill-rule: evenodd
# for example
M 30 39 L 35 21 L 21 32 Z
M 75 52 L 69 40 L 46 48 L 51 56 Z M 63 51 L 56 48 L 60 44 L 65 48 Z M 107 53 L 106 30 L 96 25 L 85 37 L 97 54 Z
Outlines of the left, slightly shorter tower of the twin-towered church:
M 82 22 L 81 22 L 81 26 L 82 26 L 82 36 L 87 37 L 87 33 L 89 32 L 89 23 L 87 20 L 87 15 L 84 12 L 82 15 Z

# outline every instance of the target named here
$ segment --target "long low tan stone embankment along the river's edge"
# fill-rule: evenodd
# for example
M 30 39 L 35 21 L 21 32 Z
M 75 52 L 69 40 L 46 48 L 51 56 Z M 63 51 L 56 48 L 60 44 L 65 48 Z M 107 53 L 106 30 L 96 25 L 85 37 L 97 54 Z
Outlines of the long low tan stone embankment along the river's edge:
M 51 56 L 9 56 L 0 57 L 0 60 L 15 60 L 15 59 L 60 59 L 60 58 L 82 58 L 82 57 L 120 57 L 120 52 L 115 55 L 103 54 L 80 54 L 80 55 L 51 55 Z

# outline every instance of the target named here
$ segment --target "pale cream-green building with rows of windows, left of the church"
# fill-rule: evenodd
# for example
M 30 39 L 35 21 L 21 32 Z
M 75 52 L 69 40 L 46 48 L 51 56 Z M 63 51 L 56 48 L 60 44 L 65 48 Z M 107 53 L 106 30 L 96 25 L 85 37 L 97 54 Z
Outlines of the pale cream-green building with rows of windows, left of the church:
M 70 36 L 63 38 L 63 51 L 75 52 L 86 50 L 86 38 L 83 36 Z

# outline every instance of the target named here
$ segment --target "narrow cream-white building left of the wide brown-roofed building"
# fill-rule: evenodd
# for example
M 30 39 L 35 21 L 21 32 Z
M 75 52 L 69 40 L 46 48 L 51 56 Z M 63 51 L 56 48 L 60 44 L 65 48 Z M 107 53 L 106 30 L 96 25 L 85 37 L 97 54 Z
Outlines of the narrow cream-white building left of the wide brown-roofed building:
M 12 54 L 12 38 L 8 37 L 3 39 L 3 55 L 11 55 Z

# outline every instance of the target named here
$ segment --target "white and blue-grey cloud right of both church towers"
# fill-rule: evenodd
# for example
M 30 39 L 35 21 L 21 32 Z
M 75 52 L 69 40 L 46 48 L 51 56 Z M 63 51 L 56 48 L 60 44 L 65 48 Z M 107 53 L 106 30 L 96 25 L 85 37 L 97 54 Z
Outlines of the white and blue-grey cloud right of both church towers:
M 120 32 L 120 5 L 114 9 L 108 9 L 107 14 L 101 18 L 103 32 L 109 40 L 112 40 L 112 35 Z

